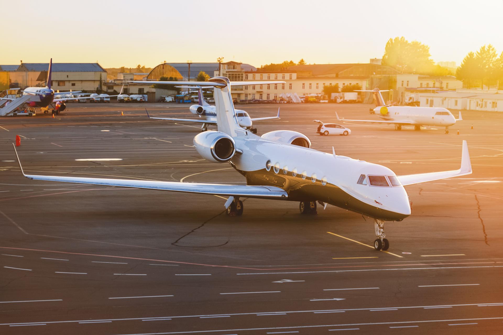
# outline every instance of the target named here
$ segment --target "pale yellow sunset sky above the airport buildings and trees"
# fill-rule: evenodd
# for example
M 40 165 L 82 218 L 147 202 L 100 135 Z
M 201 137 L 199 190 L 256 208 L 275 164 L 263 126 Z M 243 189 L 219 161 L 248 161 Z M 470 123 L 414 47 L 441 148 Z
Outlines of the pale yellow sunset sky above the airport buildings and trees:
M 503 51 L 503 0 L 21 1 L 2 12 L 0 64 L 368 63 L 396 36 L 457 65 L 484 44 Z

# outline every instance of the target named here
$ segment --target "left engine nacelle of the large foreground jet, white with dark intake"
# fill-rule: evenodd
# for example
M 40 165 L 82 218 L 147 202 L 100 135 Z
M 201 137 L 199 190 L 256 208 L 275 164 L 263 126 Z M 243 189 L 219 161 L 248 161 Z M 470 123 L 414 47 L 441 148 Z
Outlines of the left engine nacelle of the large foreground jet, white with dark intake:
M 202 132 L 194 137 L 194 147 L 204 158 L 214 163 L 225 163 L 236 153 L 236 144 L 229 135 L 217 132 Z

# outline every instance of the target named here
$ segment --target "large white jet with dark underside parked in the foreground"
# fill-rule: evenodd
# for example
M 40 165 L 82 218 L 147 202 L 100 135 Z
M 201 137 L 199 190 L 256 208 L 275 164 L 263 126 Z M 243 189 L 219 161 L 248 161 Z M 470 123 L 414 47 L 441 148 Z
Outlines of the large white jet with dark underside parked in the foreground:
M 385 166 L 336 155 L 333 148 L 332 153 L 314 150 L 298 132 L 278 130 L 259 137 L 241 128 L 230 88 L 243 82 L 214 77 L 184 84 L 214 87 L 218 131 L 197 134 L 193 141 L 197 152 L 210 162 L 229 163 L 246 178 L 246 185 L 30 175 L 24 173 L 17 156 L 21 173 L 32 180 L 227 196 L 224 207 L 231 215 L 243 213 L 240 197 L 299 201 L 300 212 L 306 214 L 316 212 L 316 202 L 324 208 L 331 204 L 374 218 L 376 250 L 389 248 L 385 221 L 410 215 L 404 186 L 472 173 L 466 141 L 458 170 L 397 176 Z

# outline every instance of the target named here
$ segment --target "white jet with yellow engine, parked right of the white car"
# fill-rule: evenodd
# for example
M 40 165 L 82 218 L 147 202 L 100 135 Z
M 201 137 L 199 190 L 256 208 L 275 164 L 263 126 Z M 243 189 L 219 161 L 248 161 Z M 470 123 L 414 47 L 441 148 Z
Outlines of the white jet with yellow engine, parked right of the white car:
M 351 122 L 370 122 L 380 124 L 393 124 L 395 130 L 401 130 L 402 126 L 414 126 L 414 130 L 421 130 L 421 126 L 436 126 L 445 127 L 445 133 L 449 134 L 449 127 L 453 126 L 456 121 L 463 120 L 461 111 L 459 118 L 455 119 L 452 113 L 441 107 L 412 107 L 412 106 L 393 106 L 386 105 L 379 88 L 373 90 L 356 90 L 358 92 L 372 92 L 376 100 L 375 114 L 379 115 L 381 120 L 350 120 L 340 119 L 337 115 L 337 120 Z

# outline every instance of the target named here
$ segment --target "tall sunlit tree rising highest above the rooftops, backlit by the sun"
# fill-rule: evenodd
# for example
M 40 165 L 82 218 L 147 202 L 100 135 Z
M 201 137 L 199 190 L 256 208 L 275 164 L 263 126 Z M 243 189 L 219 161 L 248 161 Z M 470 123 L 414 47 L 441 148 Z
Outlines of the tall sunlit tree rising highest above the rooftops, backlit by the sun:
M 418 74 L 429 74 L 434 67 L 430 47 L 418 41 L 409 42 L 403 36 L 388 40 L 382 64 L 402 73 Z

